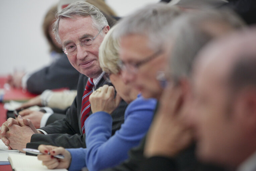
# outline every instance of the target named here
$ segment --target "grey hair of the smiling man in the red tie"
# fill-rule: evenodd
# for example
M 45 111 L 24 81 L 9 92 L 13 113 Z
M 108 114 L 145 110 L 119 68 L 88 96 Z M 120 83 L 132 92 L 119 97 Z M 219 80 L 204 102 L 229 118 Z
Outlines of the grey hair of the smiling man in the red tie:
M 92 25 L 95 28 L 97 28 L 99 31 L 103 27 L 108 26 L 106 17 L 94 5 L 91 5 L 90 3 L 85 1 L 77 1 L 77 2 L 71 3 L 66 8 L 56 13 L 57 20 L 53 24 L 53 32 L 55 34 L 56 40 L 59 43 L 61 43 L 60 36 L 59 36 L 60 19 L 64 17 L 75 18 L 76 16 L 79 16 L 79 17 L 91 16 Z

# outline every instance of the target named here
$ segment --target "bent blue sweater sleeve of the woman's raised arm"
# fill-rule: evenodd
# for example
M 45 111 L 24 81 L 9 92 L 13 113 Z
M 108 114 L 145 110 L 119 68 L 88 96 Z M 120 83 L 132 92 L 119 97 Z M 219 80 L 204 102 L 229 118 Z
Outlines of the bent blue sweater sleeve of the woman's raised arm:
M 125 111 L 125 122 L 111 137 L 112 118 L 97 112 L 85 121 L 85 163 L 90 171 L 113 167 L 128 158 L 127 152 L 137 146 L 152 122 L 155 99 L 137 98 Z

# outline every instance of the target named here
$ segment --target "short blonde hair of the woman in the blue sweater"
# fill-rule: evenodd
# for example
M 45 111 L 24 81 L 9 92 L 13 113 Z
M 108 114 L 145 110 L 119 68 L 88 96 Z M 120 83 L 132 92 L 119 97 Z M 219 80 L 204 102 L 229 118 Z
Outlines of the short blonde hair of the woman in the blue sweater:
M 104 37 L 100 49 L 99 49 L 99 61 L 103 71 L 107 73 L 117 74 L 121 68 L 118 63 L 119 58 L 119 41 L 113 37 L 113 33 L 116 31 L 118 24 L 112 27 L 108 34 Z

